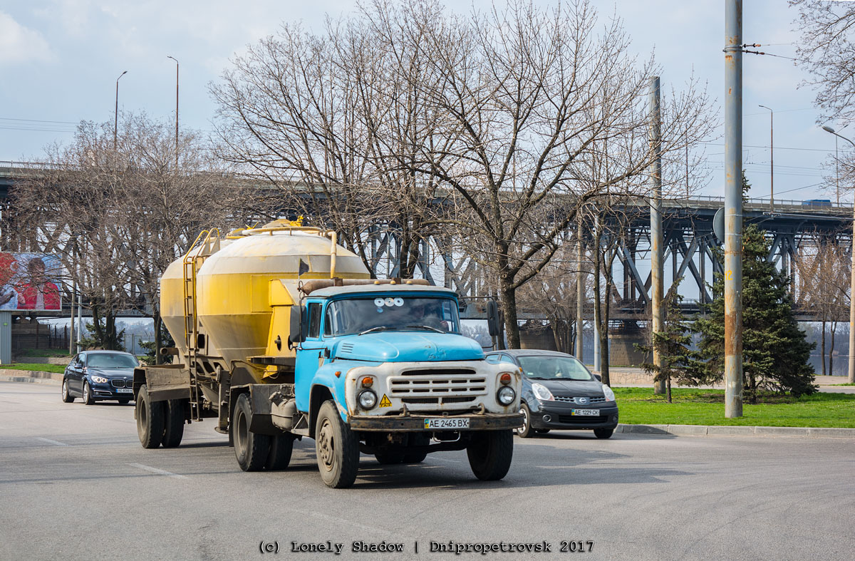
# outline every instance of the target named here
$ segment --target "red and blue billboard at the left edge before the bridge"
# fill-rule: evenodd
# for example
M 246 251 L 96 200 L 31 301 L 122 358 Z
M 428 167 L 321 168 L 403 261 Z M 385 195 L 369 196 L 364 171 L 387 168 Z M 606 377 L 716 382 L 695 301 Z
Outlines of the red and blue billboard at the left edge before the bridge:
M 61 274 L 56 257 L 0 251 L 0 310 L 62 309 Z

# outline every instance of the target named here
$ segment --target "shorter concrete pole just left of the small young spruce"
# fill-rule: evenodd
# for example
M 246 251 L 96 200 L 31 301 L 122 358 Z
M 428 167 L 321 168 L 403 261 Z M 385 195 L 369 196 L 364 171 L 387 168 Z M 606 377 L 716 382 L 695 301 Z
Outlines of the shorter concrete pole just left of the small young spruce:
M 654 341 L 657 333 L 663 331 L 662 299 L 664 292 L 662 259 L 662 124 L 659 107 L 659 77 L 650 79 L 650 151 L 652 155 L 650 176 L 653 180 L 650 198 L 650 278 L 651 278 L 651 347 L 653 363 L 662 366 L 662 355 L 657 351 Z M 653 393 L 665 393 L 665 381 L 655 382 Z

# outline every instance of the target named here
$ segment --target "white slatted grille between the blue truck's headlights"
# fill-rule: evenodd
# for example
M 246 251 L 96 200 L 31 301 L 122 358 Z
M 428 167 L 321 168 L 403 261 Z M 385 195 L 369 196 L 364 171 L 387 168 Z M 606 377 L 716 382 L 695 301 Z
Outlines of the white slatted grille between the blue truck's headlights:
M 406 370 L 389 379 L 392 397 L 404 403 L 469 403 L 486 395 L 486 378 L 472 369 Z M 418 399 L 419 401 L 408 401 Z M 430 399 L 430 401 L 428 401 Z

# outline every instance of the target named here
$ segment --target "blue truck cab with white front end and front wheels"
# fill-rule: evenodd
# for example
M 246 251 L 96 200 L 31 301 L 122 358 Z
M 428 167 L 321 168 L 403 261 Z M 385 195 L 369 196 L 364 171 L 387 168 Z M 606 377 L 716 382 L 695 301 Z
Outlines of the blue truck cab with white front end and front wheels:
M 460 334 L 455 292 L 326 286 L 302 306 L 294 400 L 327 485 L 352 484 L 360 451 L 398 464 L 465 449 L 477 477 L 504 477 L 522 373 Z

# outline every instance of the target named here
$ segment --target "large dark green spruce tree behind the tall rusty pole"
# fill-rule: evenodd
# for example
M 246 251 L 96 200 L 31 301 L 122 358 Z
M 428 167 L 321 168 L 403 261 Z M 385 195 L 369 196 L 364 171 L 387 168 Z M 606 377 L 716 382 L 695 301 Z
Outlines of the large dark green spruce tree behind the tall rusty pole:
M 757 403 L 758 391 L 814 393 L 814 371 L 808 364 L 816 343 L 808 343 L 793 316 L 790 278 L 766 256 L 765 232 L 755 225 L 742 236 L 742 370 L 746 401 Z M 721 380 L 724 375 L 724 281 L 713 284 L 715 299 L 709 315 L 695 322 L 701 334 L 699 357 L 706 372 Z

